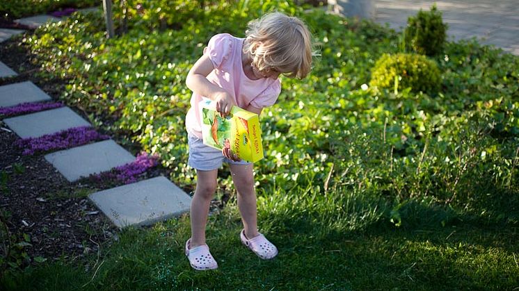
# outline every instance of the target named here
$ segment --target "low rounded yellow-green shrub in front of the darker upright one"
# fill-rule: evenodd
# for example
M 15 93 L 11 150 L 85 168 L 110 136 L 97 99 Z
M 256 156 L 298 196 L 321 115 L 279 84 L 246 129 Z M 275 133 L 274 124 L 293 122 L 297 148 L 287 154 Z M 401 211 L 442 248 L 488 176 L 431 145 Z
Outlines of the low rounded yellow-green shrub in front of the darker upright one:
M 375 63 L 370 85 L 434 93 L 440 85 L 440 69 L 433 60 L 422 55 L 384 53 Z

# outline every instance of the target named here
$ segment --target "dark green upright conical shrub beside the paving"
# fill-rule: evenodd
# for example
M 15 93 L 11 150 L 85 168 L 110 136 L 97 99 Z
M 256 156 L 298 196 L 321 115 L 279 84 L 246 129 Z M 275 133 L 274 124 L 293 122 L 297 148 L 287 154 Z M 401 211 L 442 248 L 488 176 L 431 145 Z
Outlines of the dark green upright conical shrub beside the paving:
M 420 11 L 407 19 L 405 42 L 408 50 L 427 56 L 442 52 L 445 43 L 447 24 L 442 22 L 442 13 L 431 6 L 431 11 Z

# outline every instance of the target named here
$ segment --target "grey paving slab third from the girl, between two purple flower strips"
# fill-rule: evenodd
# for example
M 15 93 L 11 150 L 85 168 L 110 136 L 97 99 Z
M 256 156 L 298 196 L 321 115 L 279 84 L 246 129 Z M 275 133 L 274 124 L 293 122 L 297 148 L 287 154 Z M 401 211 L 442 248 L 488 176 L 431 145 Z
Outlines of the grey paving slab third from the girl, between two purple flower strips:
M 3 119 L 20 138 L 38 138 L 77 126 L 89 126 L 83 117 L 68 107 L 40 111 Z

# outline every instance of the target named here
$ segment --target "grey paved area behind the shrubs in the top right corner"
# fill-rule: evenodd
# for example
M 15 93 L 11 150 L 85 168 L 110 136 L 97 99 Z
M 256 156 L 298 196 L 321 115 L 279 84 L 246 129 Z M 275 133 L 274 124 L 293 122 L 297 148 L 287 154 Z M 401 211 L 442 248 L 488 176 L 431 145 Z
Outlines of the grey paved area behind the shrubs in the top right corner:
M 517 0 L 375 0 L 375 21 L 399 30 L 418 10 L 436 2 L 455 40 L 478 38 L 519 56 L 519 1 Z

